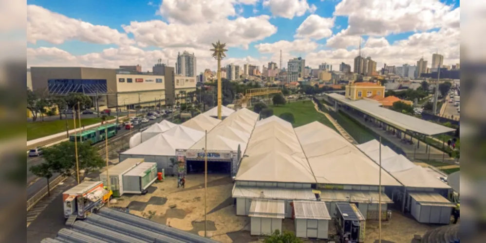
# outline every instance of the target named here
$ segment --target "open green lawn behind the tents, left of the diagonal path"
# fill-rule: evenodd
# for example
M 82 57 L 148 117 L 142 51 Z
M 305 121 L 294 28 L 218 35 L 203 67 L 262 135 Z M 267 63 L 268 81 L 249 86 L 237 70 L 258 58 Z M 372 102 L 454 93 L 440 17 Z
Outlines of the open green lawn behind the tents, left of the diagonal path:
M 313 121 L 319 121 L 320 123 L 337 131 L 326 116 L 316 111 L 314 104 L 311 101 L 299 101 L 279 106 L 270 105 L 270 108 L 273 109 L 273 114 L 275 116 L 280 116 L 280 114 L 285 112 L 294 114 L 295 123 L 292 124 L 294 127 L 299 127 Z

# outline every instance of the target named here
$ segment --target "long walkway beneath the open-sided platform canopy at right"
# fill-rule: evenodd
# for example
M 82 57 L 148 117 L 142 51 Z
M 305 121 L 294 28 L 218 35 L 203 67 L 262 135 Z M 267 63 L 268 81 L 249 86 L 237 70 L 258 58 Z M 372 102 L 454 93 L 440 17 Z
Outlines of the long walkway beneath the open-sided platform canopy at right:
M 433 160 L 442 160 L 444 152 L 442 152 L 439 149 L 436 149 L 432 146 L 430 147 L 430 156 L 429 156 L 429 151 L 426 151 L 426 143 L 422 141 L 418 141 L 417 139 L 413 138 L 413 144 L 407 144 L 403 143 L 401 139 L 397 138 L 396 136 L 393 136 L 389 133 L 387 133 L 385 130 L 383 130 L 380 127 L 376 127 L 373 125 L 372 122 L 366 122 L 362 117 L 358 117 L 355 114 L 352 114 L 350 112 L 347 112 L 346 110 L 340 110 L 341 112 L 346 113 L 348 116 L 352 117 L 354 120 L 358 121 L 362 125 L 366 126 L 370 130 L 372 130 L 374 133 L 376 133 L 378 136 L 381 136 L 383 138 L 388 139 L 390 142 L 392 142 L 395 146 L 401 148 L 403 152 L 406 154 L 406 156 L 411 159 L 411 160 L 416 160 L 417 158 L 419 159 L 433 159 Z M 407 139 L 410 139 L 410 136 L 407 136 Z M 417 148 L 417 143 L 419 143 L 419 147 Z M 444 162 L 449 163 L 449 164 L 454 164 L 455 161 L 453 158 L 450 158 L 449 155 L 445 155 Z

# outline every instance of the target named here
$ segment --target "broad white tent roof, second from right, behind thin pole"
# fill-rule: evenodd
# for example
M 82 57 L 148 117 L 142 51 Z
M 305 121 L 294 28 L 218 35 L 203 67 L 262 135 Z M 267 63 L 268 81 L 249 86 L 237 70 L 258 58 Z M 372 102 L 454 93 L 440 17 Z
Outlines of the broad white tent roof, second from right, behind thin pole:
M 315 121 L 295 132 L 318 183 L 379 185 L 380 167 L 333 129 Z M 381 170 L 382 185 L 400 185 Z

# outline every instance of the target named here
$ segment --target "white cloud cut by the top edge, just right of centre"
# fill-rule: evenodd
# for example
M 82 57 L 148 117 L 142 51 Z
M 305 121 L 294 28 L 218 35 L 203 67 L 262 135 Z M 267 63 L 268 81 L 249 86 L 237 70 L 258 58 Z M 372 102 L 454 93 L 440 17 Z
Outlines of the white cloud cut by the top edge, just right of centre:
M 264 0 L 263 6 L 270 8 L 273 16 L 292 19 L 300 17 L 306 12 L 314 13 L 316 5 L 309 5 L 307 0 Z

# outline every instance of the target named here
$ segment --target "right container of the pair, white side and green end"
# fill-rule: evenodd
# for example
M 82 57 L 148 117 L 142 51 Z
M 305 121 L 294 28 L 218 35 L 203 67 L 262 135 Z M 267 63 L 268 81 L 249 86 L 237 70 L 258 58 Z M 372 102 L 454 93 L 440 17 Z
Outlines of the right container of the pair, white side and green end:
M 144 162 L 123 175 L 125 193 L 141 194 L 157 179 L 157 163 Z

